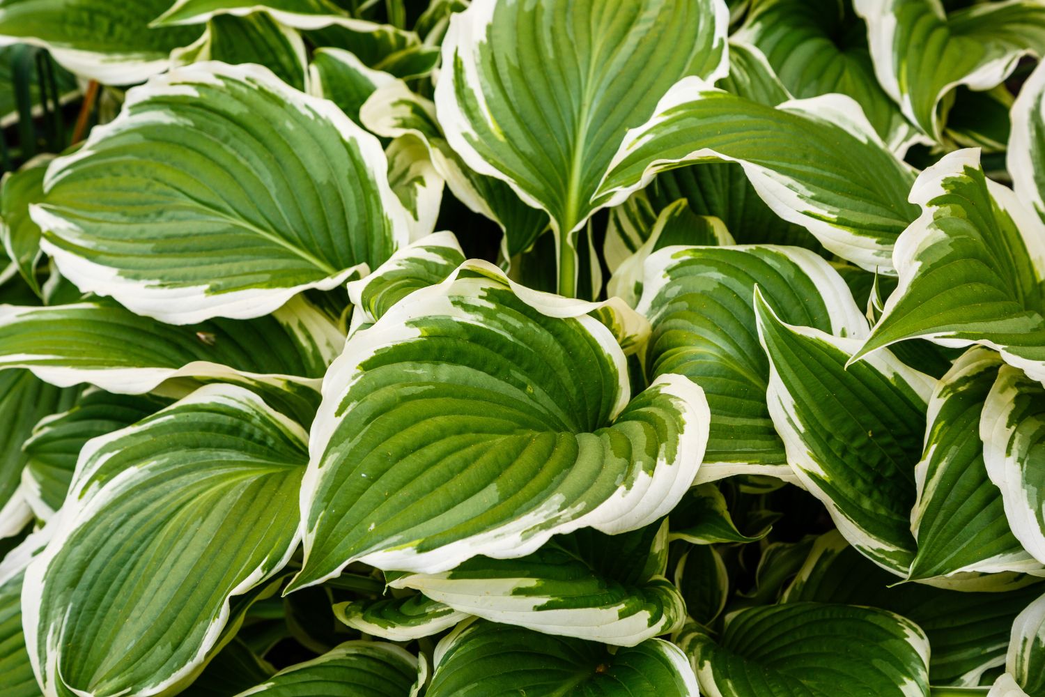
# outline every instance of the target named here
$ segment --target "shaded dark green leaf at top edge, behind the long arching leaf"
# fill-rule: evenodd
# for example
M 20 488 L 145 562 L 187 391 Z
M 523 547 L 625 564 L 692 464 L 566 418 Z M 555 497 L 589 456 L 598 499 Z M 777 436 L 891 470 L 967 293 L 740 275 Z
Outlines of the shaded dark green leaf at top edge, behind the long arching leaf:
M 796 97 L 845 94 L 860 104 L 890 149 L 903 153 L 914 129 L 878 84 L 867 29 L 837 0 L 758 0 L 734 34 L 765 53 Z

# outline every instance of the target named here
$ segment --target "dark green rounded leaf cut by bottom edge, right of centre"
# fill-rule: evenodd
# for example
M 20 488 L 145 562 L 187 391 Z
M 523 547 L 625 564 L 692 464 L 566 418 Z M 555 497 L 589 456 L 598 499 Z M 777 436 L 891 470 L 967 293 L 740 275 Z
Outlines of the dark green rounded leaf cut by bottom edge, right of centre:
M 717 697 L 927 697 L 929 642 L 910 620 L 877 608 L 821 603 L 751 607 L 713 638 L 678 637 L 700 688 Z

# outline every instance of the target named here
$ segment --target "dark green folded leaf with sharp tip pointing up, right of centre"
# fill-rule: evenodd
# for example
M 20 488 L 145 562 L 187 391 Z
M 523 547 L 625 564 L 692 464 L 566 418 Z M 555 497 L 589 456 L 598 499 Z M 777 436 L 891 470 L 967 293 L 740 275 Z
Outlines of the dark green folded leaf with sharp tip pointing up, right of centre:
M 861 554 L 906 576 L 914 465 L 936 380 L 886 351 L 846 369 L 860 340 L 787 324 L 760 294 L 754 307 L 788 463 Z

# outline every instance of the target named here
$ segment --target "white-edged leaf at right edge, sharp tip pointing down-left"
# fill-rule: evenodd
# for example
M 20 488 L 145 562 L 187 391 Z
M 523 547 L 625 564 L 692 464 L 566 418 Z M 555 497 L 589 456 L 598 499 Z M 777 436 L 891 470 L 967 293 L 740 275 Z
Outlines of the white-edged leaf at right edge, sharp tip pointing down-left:
M 975 149 L 922 172 L 910 200 L 922 215 L 893 252 L 900 284 L 855 358 L 905 339 L 977 343 L 1045 378 L 1045 224 L 984 177 Z

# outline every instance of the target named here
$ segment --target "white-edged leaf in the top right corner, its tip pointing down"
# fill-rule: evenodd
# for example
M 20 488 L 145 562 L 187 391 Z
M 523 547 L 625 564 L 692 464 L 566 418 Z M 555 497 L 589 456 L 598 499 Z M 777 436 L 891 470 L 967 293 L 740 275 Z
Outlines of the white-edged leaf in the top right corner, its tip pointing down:
M 979 3 L 948 15 L 939 0 L 854 0 L 882 88 L 938 140 L 938 104 L 959 85 L 990 90 L 1027 53 L 1045 50 L 1045 7 L 1034 0 Z

